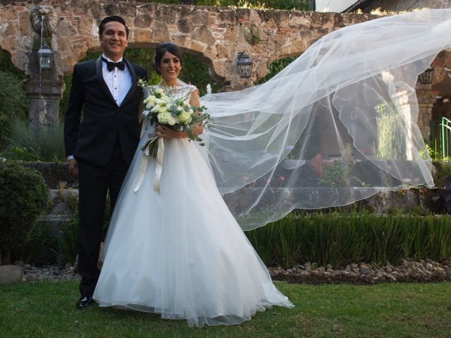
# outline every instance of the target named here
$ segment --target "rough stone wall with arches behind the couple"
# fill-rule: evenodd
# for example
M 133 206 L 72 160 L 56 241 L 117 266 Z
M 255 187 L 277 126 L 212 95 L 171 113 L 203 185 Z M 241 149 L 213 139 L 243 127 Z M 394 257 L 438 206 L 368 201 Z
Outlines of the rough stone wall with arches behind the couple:
M 106 15 L 121 15 L 130 27 L 129 48 L 153 48 L 159 42 L 175 42 L 209 63 L 211 74 L 229 89 L 248 87 L 268 73 L 278 58 L 302 54 L 317 39 L 340 27 L 373 18 L 355 13 L 312 11 L 257 11 L 147 4 L 140 1 L 8 1 L 0 3 L 0 48 L 12 62 L 30 74 L 33 37 L 30 11 L 39 4 L 53 6 L 58 15 L 51 39 L 56 73 L 68 75 L 89 50 L 98 50 L 98 24 Z M 237 54 L 245 51 L 254 61 L 249 80 L 240 79 Z

